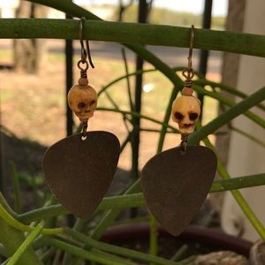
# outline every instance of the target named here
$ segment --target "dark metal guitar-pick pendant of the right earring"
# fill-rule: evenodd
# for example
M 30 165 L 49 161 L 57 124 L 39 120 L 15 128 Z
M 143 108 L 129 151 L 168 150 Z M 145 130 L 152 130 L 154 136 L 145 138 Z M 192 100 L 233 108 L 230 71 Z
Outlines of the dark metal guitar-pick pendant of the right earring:
M 201 208 L 216 174 L 216 155 L 209 148 L 166 150 L 151 158 L 141 176 L 148 208 L 166 231 L 178 236 Z

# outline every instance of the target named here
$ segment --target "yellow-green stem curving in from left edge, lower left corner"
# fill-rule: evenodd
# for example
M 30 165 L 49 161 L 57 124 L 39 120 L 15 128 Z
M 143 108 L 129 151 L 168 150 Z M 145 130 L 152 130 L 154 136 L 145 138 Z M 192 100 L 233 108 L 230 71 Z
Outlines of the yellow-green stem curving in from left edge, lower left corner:
M 13 218 L 7 210 L 0 204 L 0 218 L 4 220 L 5 223 L 8 223 L 11 227 L 19 230 L 19 231 L 34 231 L 34 228 L 28 226 L 24 223 L 20 223 L 17 219 Z M 54 228 L 54 229 L 43 229 L 42 234 L 52 235 L 57 233 L 62 233 L 63 229 L 61 228 Z

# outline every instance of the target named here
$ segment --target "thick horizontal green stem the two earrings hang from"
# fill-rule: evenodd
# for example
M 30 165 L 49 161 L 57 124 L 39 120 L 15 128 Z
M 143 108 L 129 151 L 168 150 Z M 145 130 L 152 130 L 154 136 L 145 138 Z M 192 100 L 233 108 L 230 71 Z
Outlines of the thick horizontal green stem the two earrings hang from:
M 49 1 L 32 2 L 49 3 Z M 2 28 L 0 38 L 79 40 L 78 22 L 72 19 L 0 19 L 0 27 Z M 103 42 L 187 48 L 190 42 L 190 28 L 93 20 L 86 21 L 84 38 Z M 265 36 L 262 35 L 196 28 L 194 39 L 196 40 L 194 49 L 221 50 L 265 57 Z M 227 45 L 227 42 L 230 45 Z

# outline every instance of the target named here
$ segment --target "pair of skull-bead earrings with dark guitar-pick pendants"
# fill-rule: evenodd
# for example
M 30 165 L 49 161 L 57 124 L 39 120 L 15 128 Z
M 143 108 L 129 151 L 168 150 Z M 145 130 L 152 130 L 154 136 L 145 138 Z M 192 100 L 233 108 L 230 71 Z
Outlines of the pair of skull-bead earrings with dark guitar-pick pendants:
M 92 63 L 88 42 L 83 44 L 84 18 L 79 21 L 81 60 L 79 84 L 72 87 L 68 103 L 79 117 L 82 133 L 58 141 L 43 157 L 42 167 L 48 186 L 65 208 L 75 216 L 90 216 L 107 192 L 117 168 L 119 141 L 108 132 L 87 132 L 97 102 L 95 89 L 88 85 L 87 69 Z M 177 236 L 201 207 L 216 172 L 216 155 L 208 148 L 187 146 L 201 113 L 201 103 L 193 96 L 192 51 L 183 72 L 186 85 L 173 102 L 172 118 L 178 122 L 181 144 L 155 155 L 144 166 L 141 186 L 148 208 L 159 223 Z M 87 62 L 87 56 L 88 61 Z

